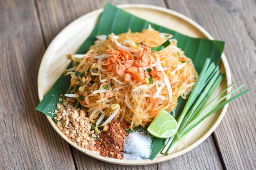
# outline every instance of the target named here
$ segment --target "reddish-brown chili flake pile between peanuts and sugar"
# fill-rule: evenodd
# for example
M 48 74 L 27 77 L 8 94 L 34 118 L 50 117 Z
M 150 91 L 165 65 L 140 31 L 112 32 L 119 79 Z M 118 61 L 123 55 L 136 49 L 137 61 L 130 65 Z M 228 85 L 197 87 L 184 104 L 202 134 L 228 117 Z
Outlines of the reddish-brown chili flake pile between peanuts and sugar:
M 96 150 L 103 157 L 123 159 L 124 139 L 126 139 L 128 124 L 125 121 L 112 120 L 109 129 L 99 135 Z

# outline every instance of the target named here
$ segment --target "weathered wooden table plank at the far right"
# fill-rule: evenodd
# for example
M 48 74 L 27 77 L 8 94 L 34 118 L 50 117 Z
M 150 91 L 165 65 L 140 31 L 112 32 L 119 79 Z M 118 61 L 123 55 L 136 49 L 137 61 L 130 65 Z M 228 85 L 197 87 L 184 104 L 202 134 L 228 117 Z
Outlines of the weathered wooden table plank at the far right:
M 173 4 L 169 5 L 172 8 Z M 229 104 L 224 120 L 214 132 L 225 168 L 256 169 L 256 116 L 252 112 L 256 109 L 256 2 L 191 0 L 186 1 L 186 6 L 191 19 L 214 38 L 226 42 L 224 53 L 232 80 L 240 79 L 239 85 L 245 84 L 250 90 Z

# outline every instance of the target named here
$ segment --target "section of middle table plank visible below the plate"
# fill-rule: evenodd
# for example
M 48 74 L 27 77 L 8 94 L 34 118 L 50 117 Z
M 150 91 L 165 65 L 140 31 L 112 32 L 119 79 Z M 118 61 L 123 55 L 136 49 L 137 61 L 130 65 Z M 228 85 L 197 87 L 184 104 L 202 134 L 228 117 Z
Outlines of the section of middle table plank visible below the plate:
M 222 163 L 218 157 L 218 150 L 214 147 L 213 138 L 210 136 L 202 144 L 195 149 L 191 150 L 175 159 L 165 161 L 162 163 L 156 163 L 153 165 L 144 166 L 124 166 L 114 165 L 112 163 L 106 163 L 97 159 L 91 158 L 88 155 L 84 155 L 76 149 L 74 151 L 74 159 L 78 169 L 85 170 L 148 170 L 148 169 L 159 169 L 159 170 L 185 170 L 185 169 L 222 169 Z

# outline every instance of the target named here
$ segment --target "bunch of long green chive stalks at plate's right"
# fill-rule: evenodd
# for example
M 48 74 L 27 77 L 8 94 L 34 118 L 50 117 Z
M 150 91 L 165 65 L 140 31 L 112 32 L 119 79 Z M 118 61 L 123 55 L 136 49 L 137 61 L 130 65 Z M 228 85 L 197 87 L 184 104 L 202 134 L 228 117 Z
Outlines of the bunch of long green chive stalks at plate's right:
M 165 146 L 162 149 L 163 154 L 166 153 L 167 155 L 170 155 L 175 148 L 175 145 L 180 142 L 180 140 L 182 140 L 182 138 L 184 138 L 189 132 L 191 132 L 198 124 L 204 121 L 212 113 L 215 113 L 224 107 L 230 101 L 249 91 L 248 89 L 245 89 L 242 92 L 228 98 L 231 94 L 244 87 L 244 85 L 241 85 L 240 87 L 218 99 L 232 85 L 238 82 L 236 81 L 224 89 L 220 94 L 218 94 L 218 96 L 213 98 L 213 100 L 207 103 L 215 89 L 221 83 L 223 77 L 223 74 L 221 74 L 219 71 L 219 66 L 216 66 L 213 62 L 211 63 L 211 59 L 207 58 L 202 68 L 202 72 L 198 77 L 198 81 L 195 84 L 195 87 L 191 92 L 182 113 L 177 119 L 178 130 L 176 135 L 166 139 L 164 142 Z M 226 98 L 228 99 L 225 100 Z

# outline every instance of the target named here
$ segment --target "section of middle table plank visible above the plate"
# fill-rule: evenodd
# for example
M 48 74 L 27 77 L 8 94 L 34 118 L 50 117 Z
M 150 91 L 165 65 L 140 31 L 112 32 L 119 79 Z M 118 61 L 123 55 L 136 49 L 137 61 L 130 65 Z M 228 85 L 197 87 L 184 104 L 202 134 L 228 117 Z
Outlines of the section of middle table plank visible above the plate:
M 95 0 L 37 0 L 36 2 L 38 4 L 40 22 L 43 28 L 43 34 L 47 46 L 65 26 L 70 24 L 70 22 L 90 11 L 104 8 L 107 3 L 106 0 L 104 0 L 103 2 L 97 2 Z M 132 0 L 131 2 L 127 0 L 108 0 L 108 2 L 112 4 L 146 3 L 165 7 L 164 0 L 150 0 L 146 2 L 144 2 L 143 0 Z

